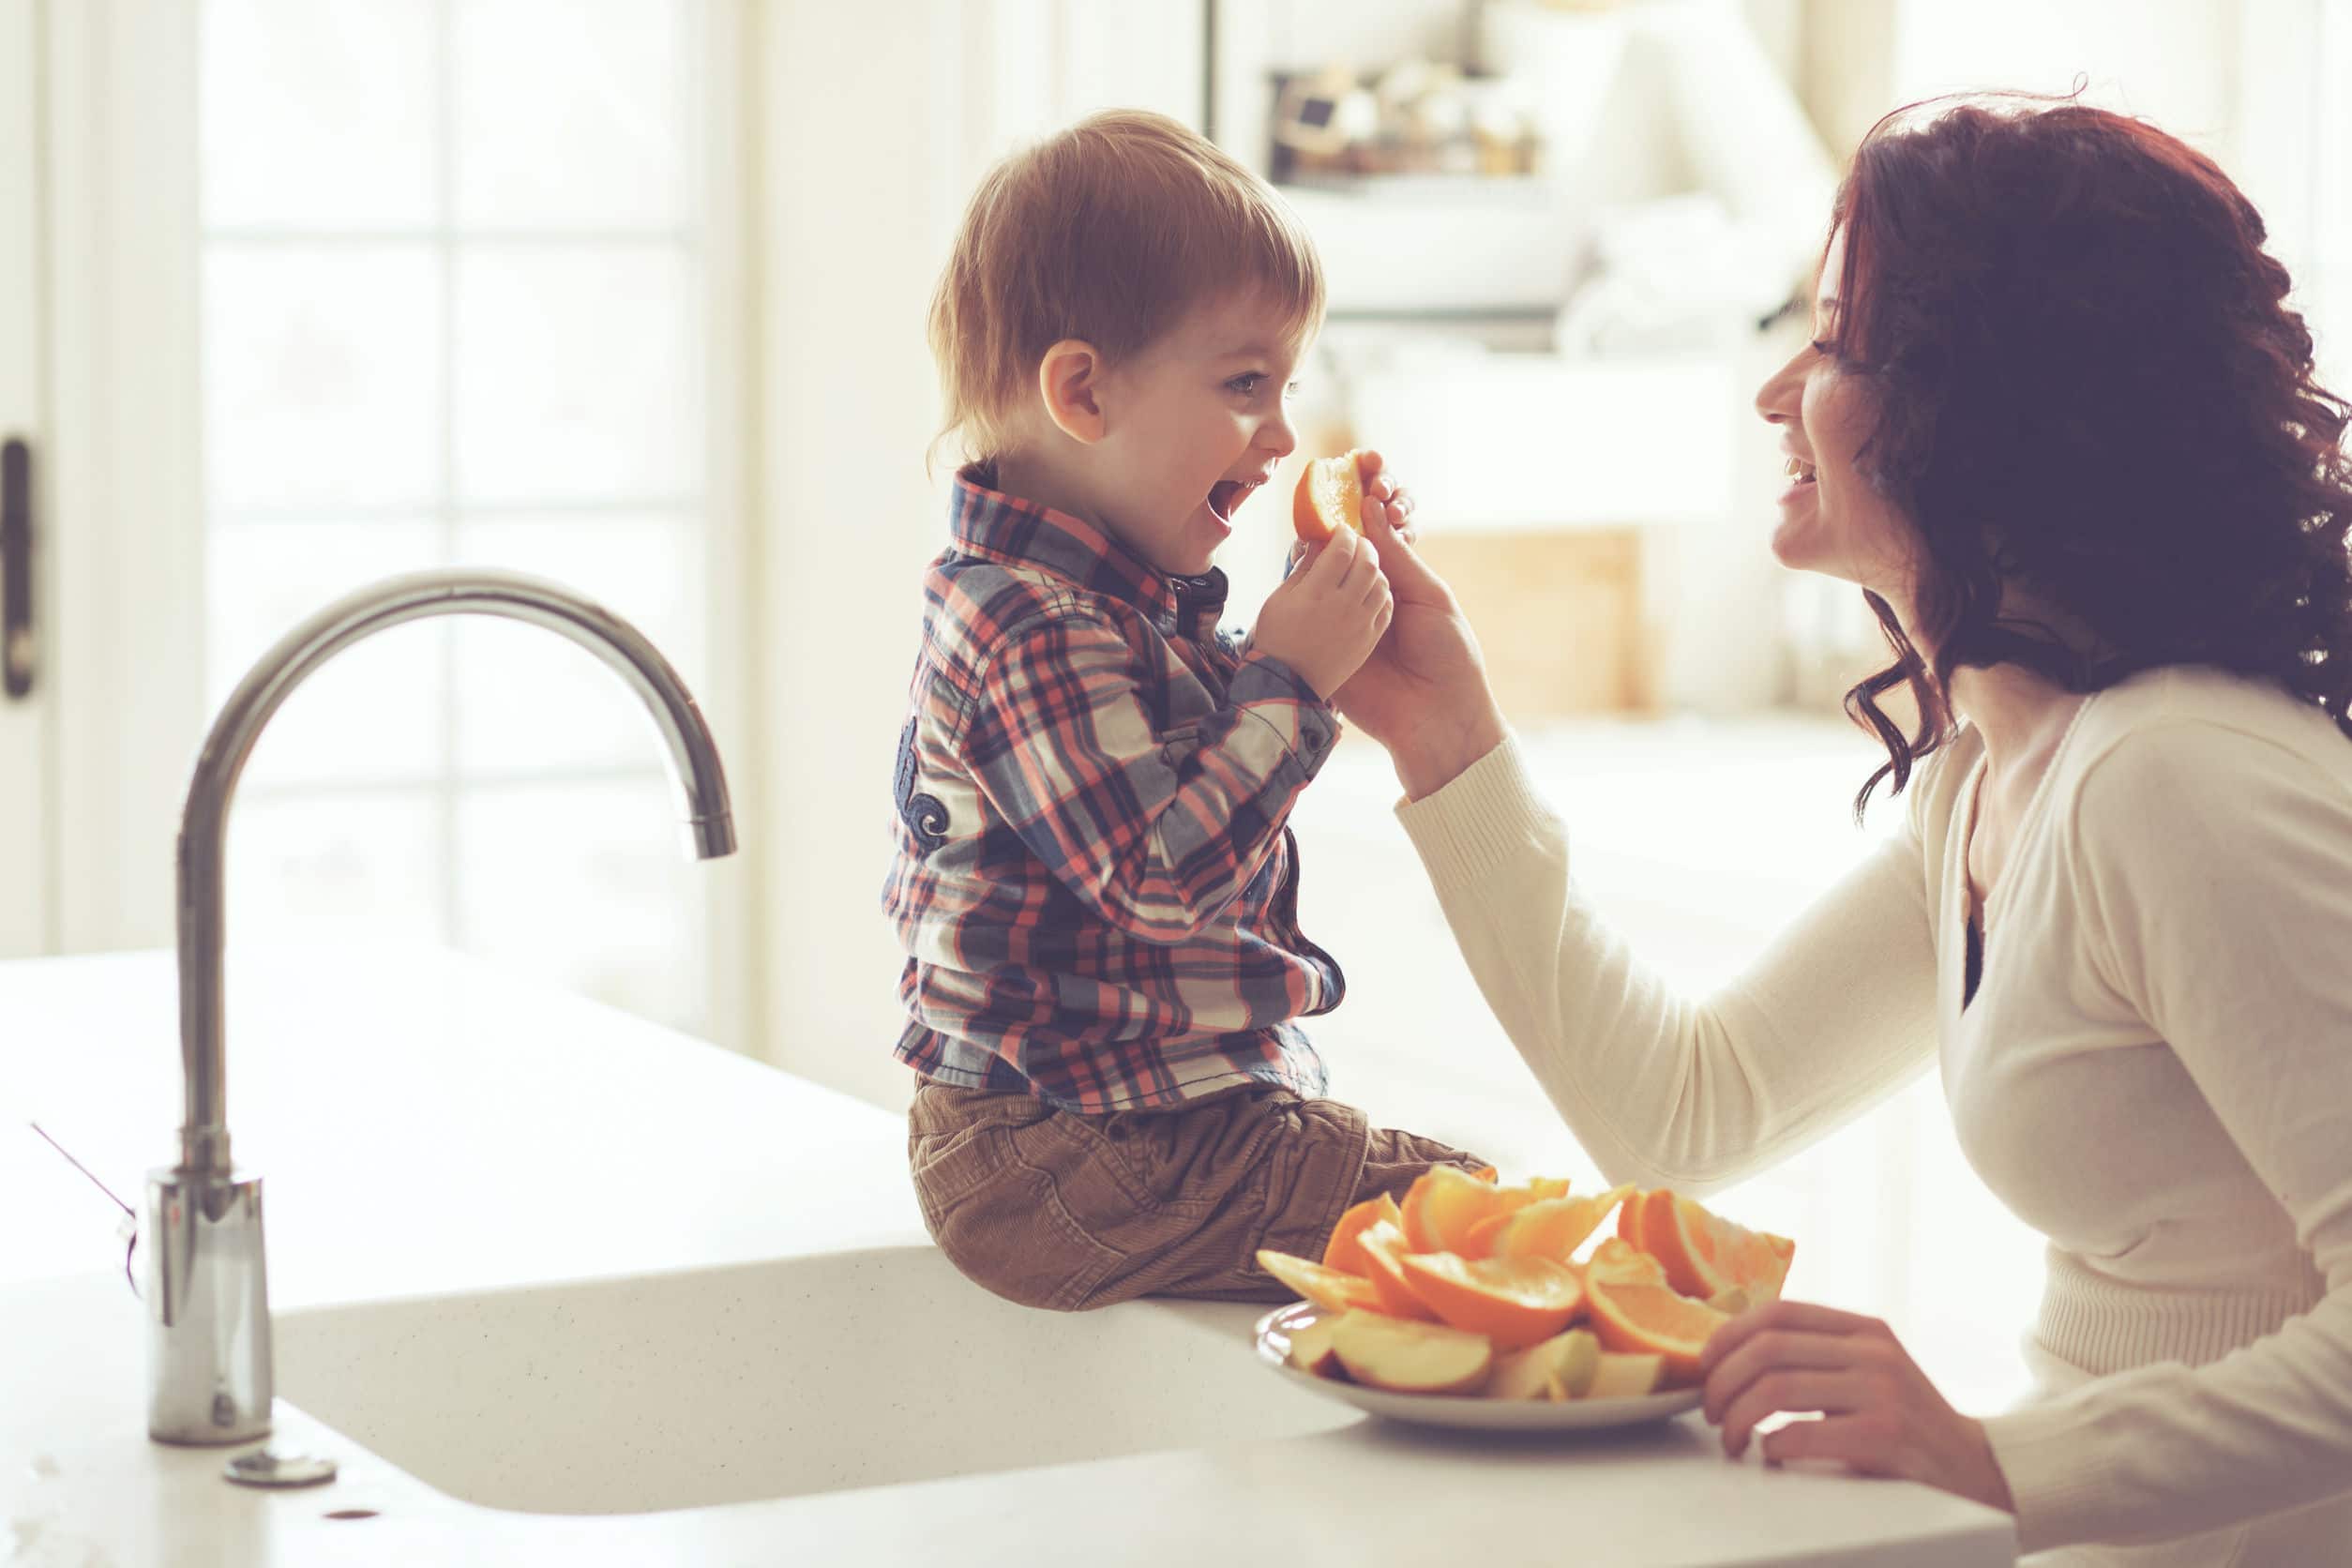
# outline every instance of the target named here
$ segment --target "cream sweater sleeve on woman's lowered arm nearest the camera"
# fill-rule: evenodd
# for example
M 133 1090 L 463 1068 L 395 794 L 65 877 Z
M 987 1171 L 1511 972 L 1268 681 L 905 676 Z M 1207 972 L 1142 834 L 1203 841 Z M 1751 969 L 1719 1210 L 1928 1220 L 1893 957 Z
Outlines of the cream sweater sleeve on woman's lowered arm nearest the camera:
M 2209 1366 L 1985 1422 L 2018 1544 L 2159 1540 L 2352 1483 L 2352 795 L 2216 724 L 2138 731 L 2074 797 L 2089 961 L 2164 1037 L 2326 1279 Z

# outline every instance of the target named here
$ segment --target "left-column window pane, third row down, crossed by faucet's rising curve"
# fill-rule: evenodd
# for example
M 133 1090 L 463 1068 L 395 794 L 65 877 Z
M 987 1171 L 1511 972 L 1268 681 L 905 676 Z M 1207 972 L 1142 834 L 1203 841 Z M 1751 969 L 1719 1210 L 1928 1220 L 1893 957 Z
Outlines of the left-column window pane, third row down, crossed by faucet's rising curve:
M 285 632 L 397 571 L 440 564 L 440 529 L 397 522 L 214 522 L 205 541 L 205 701 L 228 693 Z M 395 625 L 343 649 L 261 731 L 256 785 L 440 773 L 447 623 Z

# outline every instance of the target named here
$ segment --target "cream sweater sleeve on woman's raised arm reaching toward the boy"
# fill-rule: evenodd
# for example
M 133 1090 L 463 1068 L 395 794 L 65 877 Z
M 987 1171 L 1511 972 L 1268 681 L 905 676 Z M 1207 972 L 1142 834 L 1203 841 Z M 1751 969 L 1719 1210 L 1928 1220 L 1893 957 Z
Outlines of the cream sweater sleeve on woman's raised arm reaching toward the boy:
M 1703 1197 L 1933 1058 L 1922 783 L 1903 832 L 1705 999 L 1675 994 L 1583 898 L 1517 741 L 1397 816 L 1486 1004 L 1602 1175 Z

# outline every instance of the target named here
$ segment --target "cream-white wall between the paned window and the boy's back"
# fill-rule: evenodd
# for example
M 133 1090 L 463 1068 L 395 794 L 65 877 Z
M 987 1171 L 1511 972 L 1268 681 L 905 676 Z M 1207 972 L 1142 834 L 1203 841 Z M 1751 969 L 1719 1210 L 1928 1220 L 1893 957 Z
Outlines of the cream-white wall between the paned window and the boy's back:
M 946 543 L 924 475 L 938 383 L 931 284 L 978 174 L 1105 103 L 1200 120 L 1200 14 L 1167 0 L 760 0 L 746 52 L 757 120 L 753 644 L 746 743 L 760 795 L 750 940 L 760 1053 L 901 1105 L 903 954 L 882 917 L 891 766 Z

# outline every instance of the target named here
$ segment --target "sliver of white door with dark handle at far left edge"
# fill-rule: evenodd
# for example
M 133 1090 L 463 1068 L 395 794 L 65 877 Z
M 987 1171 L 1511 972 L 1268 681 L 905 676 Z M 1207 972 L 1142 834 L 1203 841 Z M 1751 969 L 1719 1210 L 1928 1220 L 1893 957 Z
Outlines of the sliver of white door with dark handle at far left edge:
M 33 0 L 0 0 L 0 959 L 54 947 L 49 691 L 38 583 L 40 165 Z

